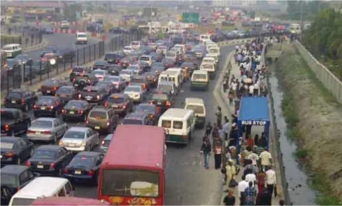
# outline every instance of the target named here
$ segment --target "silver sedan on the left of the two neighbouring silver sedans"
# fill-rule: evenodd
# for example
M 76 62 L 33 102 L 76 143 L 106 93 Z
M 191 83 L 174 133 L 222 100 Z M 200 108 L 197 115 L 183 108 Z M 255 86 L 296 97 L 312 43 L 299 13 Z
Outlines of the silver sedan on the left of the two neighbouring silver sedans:
M 40 117 L 31 122 L 26 136 L 30 140 L 57 142 L 68 130 L 68 124 L 59 118 Z

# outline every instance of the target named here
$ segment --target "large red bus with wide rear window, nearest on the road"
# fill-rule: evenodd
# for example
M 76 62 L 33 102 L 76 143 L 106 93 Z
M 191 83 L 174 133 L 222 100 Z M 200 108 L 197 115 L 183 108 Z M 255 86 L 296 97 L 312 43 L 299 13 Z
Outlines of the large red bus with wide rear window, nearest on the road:
M 113 135 L 100 166 L 97 198 L 120 206 L 164 205 L 164 129 L 119 125 Z

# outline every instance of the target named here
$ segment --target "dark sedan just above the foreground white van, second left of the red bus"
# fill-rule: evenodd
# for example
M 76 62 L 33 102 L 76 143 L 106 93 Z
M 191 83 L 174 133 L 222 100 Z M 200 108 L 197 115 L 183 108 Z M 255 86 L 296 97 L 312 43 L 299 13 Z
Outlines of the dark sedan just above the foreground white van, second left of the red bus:
M 69 164 L 72 157 L 72 152 L 64 147 L 40 145 L 26 161 L 26 167 L 40 175 L 62 177 L 63 168 Z

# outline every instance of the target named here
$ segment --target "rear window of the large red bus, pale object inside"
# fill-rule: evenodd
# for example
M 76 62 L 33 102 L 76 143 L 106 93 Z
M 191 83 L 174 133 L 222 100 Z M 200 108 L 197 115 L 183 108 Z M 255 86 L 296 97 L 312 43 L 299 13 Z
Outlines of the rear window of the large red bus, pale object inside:
M 103 170 L 101 188 L 102 195 L 157 198 L 159 173 L 142 170 Z

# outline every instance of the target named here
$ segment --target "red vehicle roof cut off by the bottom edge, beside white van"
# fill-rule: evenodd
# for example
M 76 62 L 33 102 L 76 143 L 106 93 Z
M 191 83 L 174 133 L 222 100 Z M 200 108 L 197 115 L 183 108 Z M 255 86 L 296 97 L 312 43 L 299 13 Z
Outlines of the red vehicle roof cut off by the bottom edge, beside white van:
M 31 206 L 110 206 L 110 203 L 90 198 L 46 197 L 36 199 Z

